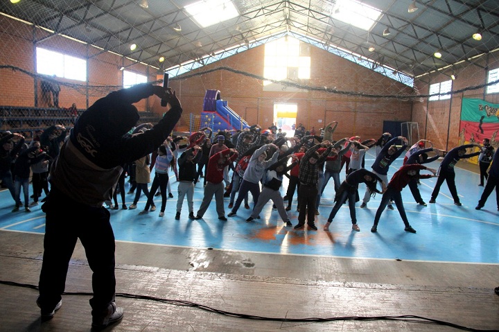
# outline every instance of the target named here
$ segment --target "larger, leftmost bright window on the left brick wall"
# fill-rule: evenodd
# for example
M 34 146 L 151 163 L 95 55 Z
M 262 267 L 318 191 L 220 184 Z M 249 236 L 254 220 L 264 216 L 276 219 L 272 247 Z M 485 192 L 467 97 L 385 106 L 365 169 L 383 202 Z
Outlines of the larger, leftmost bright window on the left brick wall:
M 54 51 L 37 47 L 37 73 L 69 78 L 71 80 L 87 80 L 87 61 Z

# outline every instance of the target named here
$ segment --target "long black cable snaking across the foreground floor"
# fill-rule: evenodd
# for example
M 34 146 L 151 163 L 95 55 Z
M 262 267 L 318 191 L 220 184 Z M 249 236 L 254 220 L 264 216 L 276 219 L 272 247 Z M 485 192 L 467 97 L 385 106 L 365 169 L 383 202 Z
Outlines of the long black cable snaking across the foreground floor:
M 2 281 L 0 283 L 8 286 L 17 286 L 24 288 L 32 288 L 37 290 L 38 286 L 30 285 L 28 283 L 16 283 L 13 281 Z M 64 292 L 63 295 L 85 295 L 93 296 L 91 292 Z M 134 295 L 128 293 L 116 293 L 116 297 L 124 297 L 126 299 L 145 299 L 148 301 L 161 302 L 166 304 L 173 304 L 175 306 L 191 306 L 193 308 L 199 308 L 203 311 L 209 311 L 210 313 L 218 313 L 220 315 L 243 318 L 245 320 L 268 320 L 273 322 L 335 322 L 338 320 L 359 320 L 359 321 L 369 321 L 369 320 L 393 320 L 393 321 L 403 321 L 411 323 L 423 323 L 423 324 L 435 324 L 442 326 L 453 327 L 454 329 L 459 329 L 463 331 L 473 331 L 473 332 L 493 332 L 498 330 L 484 330 L 484 329 L 473 329 L 471 327 L 466 327 L 458 324 L 453 324 L 443 320 L 434 320 L 432 318 L 417 316 L 417 315 L 399 315 L 399 316 L 340 316 L 340 317 L 307 317 L 307 318 L 278 318 L 278 317 L 264 317 L 256 315 L 246 315 L 244 313 L 232 313 L 230 311 L 220 310 L 216 308 L 211 308 L 210 306 L 204 306 L 203 304 L 197 304 L 190 301 L 182 301 L 179 299 L 161 299 L 160 297 L 152 297 L 147 295 Z

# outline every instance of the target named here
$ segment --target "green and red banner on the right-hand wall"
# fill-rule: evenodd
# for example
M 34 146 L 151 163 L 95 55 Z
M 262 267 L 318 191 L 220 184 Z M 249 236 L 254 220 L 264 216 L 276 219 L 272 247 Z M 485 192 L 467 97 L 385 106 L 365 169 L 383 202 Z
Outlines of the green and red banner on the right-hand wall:
M 491 146 L 499 147 L 499 104 L 488 103 L 482 99 L 463 98 L 461 123 L 459 125 L 459 145 L 482 143 L 490 139 Z M 478 164 L 478 157 L 470 159 Z

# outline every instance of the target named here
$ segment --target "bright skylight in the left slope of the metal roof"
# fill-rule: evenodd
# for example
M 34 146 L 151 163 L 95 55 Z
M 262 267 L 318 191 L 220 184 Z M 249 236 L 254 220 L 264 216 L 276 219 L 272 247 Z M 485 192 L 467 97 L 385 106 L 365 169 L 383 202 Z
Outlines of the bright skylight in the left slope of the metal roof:
M 185 6 L 184 9 L 202 28 L 239 16 L 234 3 L 230 0 L 201 0 Z

